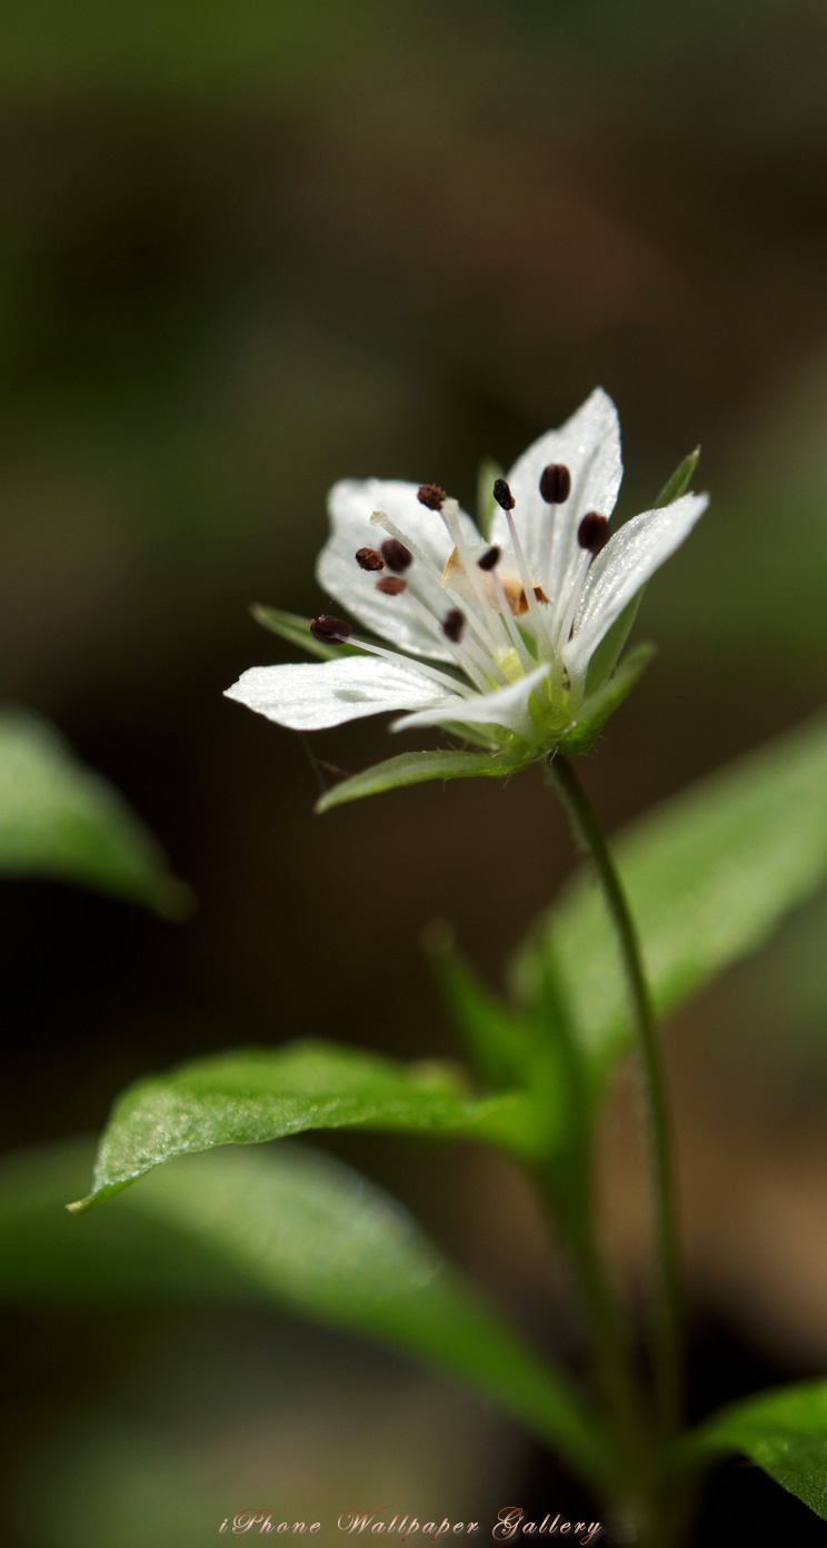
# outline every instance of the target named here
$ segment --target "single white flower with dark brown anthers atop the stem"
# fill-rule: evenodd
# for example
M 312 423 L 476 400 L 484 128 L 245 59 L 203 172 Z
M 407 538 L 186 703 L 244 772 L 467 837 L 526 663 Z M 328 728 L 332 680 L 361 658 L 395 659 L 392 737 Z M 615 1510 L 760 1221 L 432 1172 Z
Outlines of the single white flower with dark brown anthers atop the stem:
M 488 537 L 431 485 L 335 485 L 317 579 L 369 638 L 322 613 L 314 639 L 347 653 L 252 667 L 229 698 L 297 731 L 404 709 L 393 731 L 441 724 L 525 760 L 553 749 L 606 686 L 630 604 L 708 503 L 685 494 L 609 536 L 621 477 L 616 410 L 596 389 L 497 480 Z

